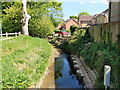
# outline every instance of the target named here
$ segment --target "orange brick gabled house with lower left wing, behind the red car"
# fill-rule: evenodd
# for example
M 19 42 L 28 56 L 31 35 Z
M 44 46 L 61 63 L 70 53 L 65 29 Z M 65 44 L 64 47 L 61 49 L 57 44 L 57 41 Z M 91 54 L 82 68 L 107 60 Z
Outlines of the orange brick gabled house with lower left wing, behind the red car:
M 63 25 L 59 24 L 58 27 L 56 27 L 56 29 L 60 29 L 60 30 L 69 30 L 70 26 L 75 25 L 78 27 L 78 22 L 77 20 L 74 19 L 67 19 L 66 21 L 63 22 Z

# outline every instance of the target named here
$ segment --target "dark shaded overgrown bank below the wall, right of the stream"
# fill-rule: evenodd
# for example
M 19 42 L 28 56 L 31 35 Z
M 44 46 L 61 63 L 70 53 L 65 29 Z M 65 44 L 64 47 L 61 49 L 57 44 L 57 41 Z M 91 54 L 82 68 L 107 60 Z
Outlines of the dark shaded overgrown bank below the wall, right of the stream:
M 104 87 L 104 65 L 110 65 L 110 84 L 113 88 L 120 88 L 120 51 L 117 44 L 95 43 L 89 34 L 78 33 L 74 34 L 71 40 L 65 41 L 62 48 L 70 54 L 81 55 L 85 64 L 98 72 L 96 87 Z

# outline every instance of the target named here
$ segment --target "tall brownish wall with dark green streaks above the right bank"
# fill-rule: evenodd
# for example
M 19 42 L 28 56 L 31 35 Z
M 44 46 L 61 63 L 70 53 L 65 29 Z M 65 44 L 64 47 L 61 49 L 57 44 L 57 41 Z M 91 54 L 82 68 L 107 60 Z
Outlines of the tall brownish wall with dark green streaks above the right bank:
M 88 29 L 91 37 L 94 39 L 94 42 L 97 43 L 117 43 L 119 41 L 120 35 L 120 23 L 111 22 L 105 24 L 99 24 L 95 26 L 91 26 Z

